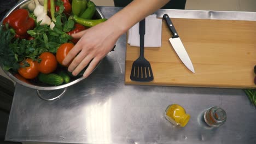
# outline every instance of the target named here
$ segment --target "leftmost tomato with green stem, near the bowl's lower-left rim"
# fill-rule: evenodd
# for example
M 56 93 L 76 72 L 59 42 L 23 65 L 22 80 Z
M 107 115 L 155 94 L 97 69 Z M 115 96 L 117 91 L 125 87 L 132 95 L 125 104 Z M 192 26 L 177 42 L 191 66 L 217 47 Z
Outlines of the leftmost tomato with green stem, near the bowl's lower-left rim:
M 37 62 L 33 61 L 31 58 L 25 59 L 25 61 L 30 64 L 29 67 L 21 67 L 18 70 L 18 73 L 24 77 L 25 79 L 34 79 L 39 74 L 39 70 L 37 68 Z M 26 64 L 26 63 L 25 63 Z M 24 65 L 24 62 L 20 62 L 20 65 Z

